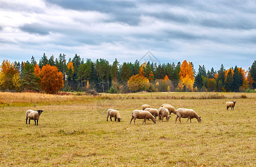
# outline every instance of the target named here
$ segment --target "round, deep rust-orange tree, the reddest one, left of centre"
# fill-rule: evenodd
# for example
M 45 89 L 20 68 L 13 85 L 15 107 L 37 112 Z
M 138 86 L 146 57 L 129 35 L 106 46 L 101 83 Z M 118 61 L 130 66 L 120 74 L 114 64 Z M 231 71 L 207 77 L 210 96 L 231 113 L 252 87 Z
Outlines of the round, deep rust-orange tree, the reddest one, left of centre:
M 55 66 L 42 66 L 39 77 L 41 89 L 48 94 L 57 94 L 64 86 L 63 73 Z

